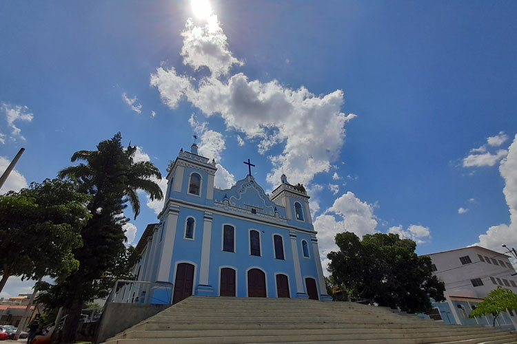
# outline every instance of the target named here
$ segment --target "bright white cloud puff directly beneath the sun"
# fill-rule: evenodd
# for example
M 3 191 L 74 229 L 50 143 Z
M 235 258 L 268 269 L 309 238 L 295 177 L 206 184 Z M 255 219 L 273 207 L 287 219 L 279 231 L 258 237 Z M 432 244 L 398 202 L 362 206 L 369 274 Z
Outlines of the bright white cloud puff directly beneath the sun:
M 215 14 L 207 18 L 204 28 L 195 26 L 191 18 L 187 19 L 181 36 L 183 64 L 192 66 L 194 70 L 205 66 L 218 77 L 228 74 L 232 65 L 243 65 L 228 50 L 227 37 Z

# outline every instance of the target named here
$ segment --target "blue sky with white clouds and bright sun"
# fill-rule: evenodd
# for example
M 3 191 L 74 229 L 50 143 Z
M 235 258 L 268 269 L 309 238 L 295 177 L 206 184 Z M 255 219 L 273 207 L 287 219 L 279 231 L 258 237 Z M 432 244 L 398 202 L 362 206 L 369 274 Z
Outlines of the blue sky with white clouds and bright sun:
M 0 171 L 26 151 L 0 193 L 118 131 L 165 175 L 196 133 L 220 188 L 248 158 L 266 192 L 304 184 L 324 264 L 345 230 L 517 247 L 516 1 L 206 6 L 1 1 Z M 141 203 L 129 244 L 163 206 Z

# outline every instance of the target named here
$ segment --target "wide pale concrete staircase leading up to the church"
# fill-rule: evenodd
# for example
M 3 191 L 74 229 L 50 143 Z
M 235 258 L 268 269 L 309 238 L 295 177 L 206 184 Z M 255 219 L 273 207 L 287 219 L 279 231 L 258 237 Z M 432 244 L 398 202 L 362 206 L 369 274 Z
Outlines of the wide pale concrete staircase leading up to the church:
M 105 343 L 517 344 L 517 334 L 349 302 L 189 297 Z

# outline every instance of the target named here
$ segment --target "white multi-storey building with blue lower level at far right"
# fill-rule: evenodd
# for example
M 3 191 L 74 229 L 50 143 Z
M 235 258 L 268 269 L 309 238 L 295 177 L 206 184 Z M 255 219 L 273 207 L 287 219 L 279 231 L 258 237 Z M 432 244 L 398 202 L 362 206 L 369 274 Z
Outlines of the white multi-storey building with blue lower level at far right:
M 445 283 L 445 302 L 433 303 L 445 323 L 492 325 L 493 316 L 470 319 L 470 312 L 498 286 L 517 292 L 517 275 L 508 255 L 480 246 L 428 255 L 434 274 Z M 496 324 L 517 328 L 515 311 L 502 313 Z

